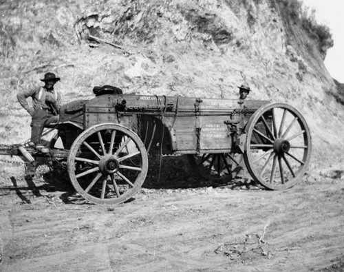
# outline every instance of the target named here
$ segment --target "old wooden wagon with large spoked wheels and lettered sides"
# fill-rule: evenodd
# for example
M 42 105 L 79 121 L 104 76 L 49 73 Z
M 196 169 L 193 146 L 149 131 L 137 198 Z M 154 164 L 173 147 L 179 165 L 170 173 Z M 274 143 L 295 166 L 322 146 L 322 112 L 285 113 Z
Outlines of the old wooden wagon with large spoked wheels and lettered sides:
M 72 185 L 90 202 L 131 198 L 154 152 L 186 154 L 197 174 L 215 181 L 230 180 L 246 165 L 256 182 L 276 190 L 295 185 L 308 167 L 310 130 L 290 105 L 122 94 L 111 86 L 94 91 L 90 100 L 63 106 L 46 153 L 21 147 L 30 156 L 65 162 Z

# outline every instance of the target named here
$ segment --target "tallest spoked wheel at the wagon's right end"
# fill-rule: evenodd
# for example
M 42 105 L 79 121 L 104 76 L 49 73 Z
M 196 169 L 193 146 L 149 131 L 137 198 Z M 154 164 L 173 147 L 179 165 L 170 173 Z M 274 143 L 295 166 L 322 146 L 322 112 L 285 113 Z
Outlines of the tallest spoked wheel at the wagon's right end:
M 283 103 L 265 105 L 251 116 L 246 133 L 246 168 L 261 185 L 288 189 L 305 174 L 312 144 L 297 109 Z

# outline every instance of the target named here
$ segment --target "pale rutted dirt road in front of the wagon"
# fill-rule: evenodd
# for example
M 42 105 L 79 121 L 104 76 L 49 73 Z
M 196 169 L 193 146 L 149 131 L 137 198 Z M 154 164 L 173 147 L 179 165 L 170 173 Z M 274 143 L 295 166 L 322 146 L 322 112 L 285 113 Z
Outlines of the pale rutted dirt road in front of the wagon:
M 211 187 L 184 163 L 117 206 L 0 165 L 0 271 L 344 271 L 343 173 L 268 191 L 243 177 Z

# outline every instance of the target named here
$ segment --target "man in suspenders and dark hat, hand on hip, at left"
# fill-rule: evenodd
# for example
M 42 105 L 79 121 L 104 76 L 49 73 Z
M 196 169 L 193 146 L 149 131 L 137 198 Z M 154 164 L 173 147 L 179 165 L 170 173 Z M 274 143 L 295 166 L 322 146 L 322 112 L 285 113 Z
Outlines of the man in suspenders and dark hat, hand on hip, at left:
M 58 113 L 61 109 L 61 94 L 54 90 L 54 85 L 60 78 L 54 73 L 46 73 L 41 79 L 45 83 L 43 87 L 35 87 L 17 94 L 19 103 L 32 116 L 31 142 L 35 145 L 41 144 L 41 136 L 44 127 L 58 122 Z M 32 98 L 29 105 L 27 98 Z

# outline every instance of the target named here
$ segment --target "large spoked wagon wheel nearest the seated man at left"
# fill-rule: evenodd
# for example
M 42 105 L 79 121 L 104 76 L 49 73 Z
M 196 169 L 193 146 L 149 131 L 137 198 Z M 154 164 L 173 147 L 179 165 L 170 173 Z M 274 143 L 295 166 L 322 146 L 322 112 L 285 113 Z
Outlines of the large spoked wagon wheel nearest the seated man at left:
M 67 160 L 72 185 L 96 204 L 117 204 L 138 192 L 148 156 L 137 134 L 122 125 L 89 127 L 74 141 Z

